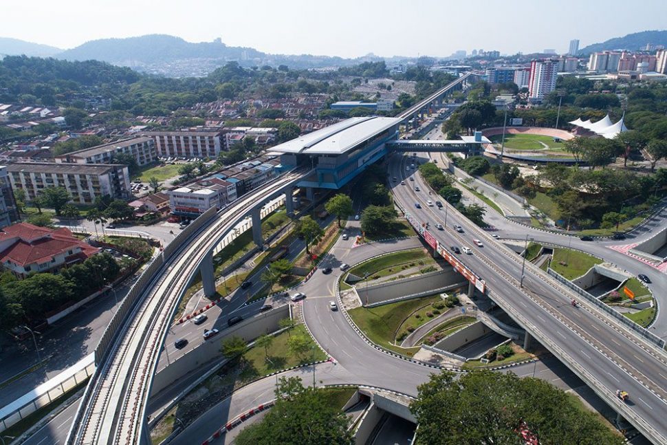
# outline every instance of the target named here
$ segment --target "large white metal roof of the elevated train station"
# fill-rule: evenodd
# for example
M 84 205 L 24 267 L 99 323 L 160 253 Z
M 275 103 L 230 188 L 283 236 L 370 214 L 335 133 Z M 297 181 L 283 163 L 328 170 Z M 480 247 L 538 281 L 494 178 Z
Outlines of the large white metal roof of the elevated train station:
M 310 155 L 340 155 L 355 146 L 397 125 L 399 118 L 349 118 L 329 127 L 301 135 L 271 151 L 280 153 L 305 153 Z

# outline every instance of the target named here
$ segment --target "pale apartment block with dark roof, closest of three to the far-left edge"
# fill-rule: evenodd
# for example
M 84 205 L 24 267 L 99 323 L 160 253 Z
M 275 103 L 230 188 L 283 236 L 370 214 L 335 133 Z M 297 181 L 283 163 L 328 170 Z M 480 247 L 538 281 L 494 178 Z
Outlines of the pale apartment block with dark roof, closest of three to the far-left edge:
M 92 204 L 98 196 L 131 195 L 127 165 L 30 162 L 9 164 L 7 173 L 12 187 L 23 188 L 29 201 L 47 187 L 64 187 L 78 204 Z

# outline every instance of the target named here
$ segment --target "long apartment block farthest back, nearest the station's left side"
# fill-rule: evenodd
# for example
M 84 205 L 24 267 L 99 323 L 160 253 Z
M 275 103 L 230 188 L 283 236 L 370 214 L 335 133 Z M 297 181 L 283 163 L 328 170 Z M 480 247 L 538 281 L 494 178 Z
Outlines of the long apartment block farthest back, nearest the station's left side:
M 223 149 L 222 131 L 146 131 L 162 158 L 212 158 Z M 221 142 L 222 141 L 222 142 Z

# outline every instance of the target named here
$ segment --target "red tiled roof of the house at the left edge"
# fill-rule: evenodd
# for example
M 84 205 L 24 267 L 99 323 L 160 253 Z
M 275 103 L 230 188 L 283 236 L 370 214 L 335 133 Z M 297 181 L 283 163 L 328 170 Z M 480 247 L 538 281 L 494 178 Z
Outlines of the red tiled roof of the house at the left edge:
M 74 237 L 67 228 L 56 230 L 33 226 L 28 223 L 14 224 L 4 228 L 0 233 L 0 241 L 16 237 L 11 246 L 0 252 L 0 261 L 12 261 L 21 266 L 32 263 L 44 263 L 52 257 L 76 247 L 80 248 L 85 257 L 100 251 Z

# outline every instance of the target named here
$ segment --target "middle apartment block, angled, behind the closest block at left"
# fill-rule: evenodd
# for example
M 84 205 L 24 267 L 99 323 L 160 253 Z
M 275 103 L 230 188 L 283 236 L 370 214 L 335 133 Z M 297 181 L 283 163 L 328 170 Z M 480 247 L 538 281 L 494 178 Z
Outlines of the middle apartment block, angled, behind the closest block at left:
M 155 142 L 147 136 L 91 146 L 89 149 L 56 156 L 55 160 L 58 163 L 111 164 L 114 156 L 120 154 L 132 155 L 139 166 L 157 161 Z

